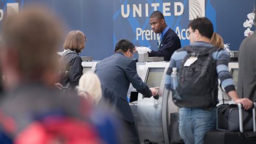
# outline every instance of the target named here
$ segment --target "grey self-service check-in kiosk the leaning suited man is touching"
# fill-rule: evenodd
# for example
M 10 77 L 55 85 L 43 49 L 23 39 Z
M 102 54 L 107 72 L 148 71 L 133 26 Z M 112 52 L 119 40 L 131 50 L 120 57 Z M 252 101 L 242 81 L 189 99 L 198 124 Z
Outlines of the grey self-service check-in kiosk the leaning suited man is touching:
M 169 116 L 170 113 L 177 113 L 178 107 L 172 102 L 171 92 L 164 87 L 168 67 L 169 62 L 137 63 L 137 71 L 142 81 L 147 83 L 148 87 L 160 87 L 157 97 L 144 98 L 130 86 L 130 106 L 141 142 L 149 139 L 157 143 L 169 143 Z

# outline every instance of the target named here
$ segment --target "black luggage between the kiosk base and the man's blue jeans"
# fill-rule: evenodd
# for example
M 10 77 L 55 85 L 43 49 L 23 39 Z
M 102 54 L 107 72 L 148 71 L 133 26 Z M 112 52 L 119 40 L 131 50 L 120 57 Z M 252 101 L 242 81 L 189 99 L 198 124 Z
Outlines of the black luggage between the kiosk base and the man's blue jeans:
M 182 144 L 184 141 L 179 133 L 179 113 L 171 113 L 171 124 L 169 126 L 170 144 Z

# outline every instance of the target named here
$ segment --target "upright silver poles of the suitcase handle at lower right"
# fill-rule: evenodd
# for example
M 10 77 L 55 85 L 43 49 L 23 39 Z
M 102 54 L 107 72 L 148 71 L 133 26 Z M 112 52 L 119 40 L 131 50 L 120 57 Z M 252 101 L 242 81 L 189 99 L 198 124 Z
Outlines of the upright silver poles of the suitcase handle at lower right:
M 237 103 L 238 106 L 238 114 L 239 114 L 239 130 L 241 133 L 244 132 L 244 127 L 243 127 L 243 110 L 242 110 L 242 104 Z M 256 131 L 256 119 L 255 119 L 255 107 L 256 107 L 256 102 L 253 102 L 252 106 L 252 118 L 253 118 L 253 131 Z

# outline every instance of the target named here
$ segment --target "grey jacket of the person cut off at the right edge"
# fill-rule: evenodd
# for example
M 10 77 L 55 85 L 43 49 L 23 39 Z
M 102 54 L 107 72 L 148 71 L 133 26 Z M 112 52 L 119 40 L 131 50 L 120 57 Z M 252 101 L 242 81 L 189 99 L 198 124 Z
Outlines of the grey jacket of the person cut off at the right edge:
M 256 100 L 256 34 L 246 37 L 239 47 L 237 93 L 240 98 Z

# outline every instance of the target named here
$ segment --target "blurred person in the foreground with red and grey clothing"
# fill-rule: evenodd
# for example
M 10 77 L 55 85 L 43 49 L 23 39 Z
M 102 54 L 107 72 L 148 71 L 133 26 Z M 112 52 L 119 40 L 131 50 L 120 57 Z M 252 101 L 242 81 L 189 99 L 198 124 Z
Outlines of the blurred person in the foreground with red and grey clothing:
M 14 143 L 107 143 L 89 120 L 90 102 L 54 86 L 62 35 L 58 19 L 50 10 L 30 7 L 2 26 L 6 94 L 0 101 L 0 132 Z

